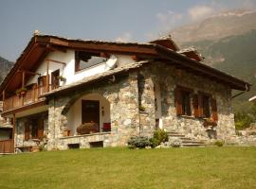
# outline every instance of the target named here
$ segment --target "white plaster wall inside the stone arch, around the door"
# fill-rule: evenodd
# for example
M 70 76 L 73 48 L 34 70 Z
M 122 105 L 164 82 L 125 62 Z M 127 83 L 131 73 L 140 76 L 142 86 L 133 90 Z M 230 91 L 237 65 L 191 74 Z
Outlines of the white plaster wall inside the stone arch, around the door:
M 80 97 L 70 108 L 67 113 L 67 126 L 71 130 L 71 135 L 76 133 L 77 127 L 82 124 L 82 100 L 99 100 L 100 101 L 100 128 L 103 123 L 110 123 L 110 104 L 100 94 L 86 94 Z M 104 114 L 102 115 L 102 108 Z

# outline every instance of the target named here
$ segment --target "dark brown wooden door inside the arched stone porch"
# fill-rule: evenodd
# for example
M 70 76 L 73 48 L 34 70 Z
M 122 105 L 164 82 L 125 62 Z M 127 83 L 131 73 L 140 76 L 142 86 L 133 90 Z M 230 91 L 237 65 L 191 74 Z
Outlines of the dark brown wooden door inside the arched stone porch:
M 82 100 L 82 124 L 96 123 L 100 131 L 100 101 Z

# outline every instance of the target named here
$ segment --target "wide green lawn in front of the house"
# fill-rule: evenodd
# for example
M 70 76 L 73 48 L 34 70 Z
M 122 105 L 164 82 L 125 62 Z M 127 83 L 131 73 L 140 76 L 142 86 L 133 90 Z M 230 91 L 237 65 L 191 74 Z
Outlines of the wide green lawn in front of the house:
M 0 188 L 256 188 L 256 147 L 94 148 L 2 156 Z

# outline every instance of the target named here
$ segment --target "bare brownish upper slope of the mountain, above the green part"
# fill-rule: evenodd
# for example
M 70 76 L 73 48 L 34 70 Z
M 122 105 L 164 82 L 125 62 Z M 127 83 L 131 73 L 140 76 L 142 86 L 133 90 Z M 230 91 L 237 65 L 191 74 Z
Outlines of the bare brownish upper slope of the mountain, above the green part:
M 231 35 L 241 35 L 256 29 L 256 11 L 232 10 L 219 13 L 200 23 L 177 27 L 171 31 L 177 43 L 217 40 Z

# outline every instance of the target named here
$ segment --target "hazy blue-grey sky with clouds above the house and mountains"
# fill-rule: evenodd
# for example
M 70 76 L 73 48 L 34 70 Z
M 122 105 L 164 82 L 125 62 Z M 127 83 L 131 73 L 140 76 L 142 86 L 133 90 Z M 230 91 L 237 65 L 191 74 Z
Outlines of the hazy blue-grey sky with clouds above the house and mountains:
M 256 0 L 0 0 L 0 56 L 18 59 L 34 30 L 71 39 L 146 43 Z

